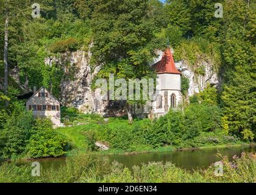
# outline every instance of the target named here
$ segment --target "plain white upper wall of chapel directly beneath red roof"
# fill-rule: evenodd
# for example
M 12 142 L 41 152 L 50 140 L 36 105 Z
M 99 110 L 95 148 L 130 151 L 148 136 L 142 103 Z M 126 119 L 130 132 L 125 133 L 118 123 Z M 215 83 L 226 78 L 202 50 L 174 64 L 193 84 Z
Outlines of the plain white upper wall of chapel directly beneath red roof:
M 180 74 L 158 74 L 157 90 L 180 90 Z

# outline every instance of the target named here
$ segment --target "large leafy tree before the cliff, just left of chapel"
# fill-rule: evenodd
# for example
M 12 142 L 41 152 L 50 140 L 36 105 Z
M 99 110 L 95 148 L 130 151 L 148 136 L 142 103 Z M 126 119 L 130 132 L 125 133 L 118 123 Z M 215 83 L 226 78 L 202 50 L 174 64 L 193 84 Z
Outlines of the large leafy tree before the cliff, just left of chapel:
M 98 77 L 141 79 L 153 76 L 148 66 L 155 56 L 158 43 L 154 35 L 154 23 L 148 16 L 148 1 L 97 0 L 93 12 L 93 60 L 104 67 Z M 132 121 L 132 105 L 127 114 Z

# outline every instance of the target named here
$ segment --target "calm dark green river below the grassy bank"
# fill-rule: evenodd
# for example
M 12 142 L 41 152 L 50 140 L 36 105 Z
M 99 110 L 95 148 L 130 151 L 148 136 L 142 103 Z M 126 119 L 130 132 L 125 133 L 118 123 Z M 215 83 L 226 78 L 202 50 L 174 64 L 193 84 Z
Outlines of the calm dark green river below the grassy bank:
M 149 161 L 171 161 L 176 166 L 187 170 L 207 168 L 212 163 L 219 161 L 218 153 L 232 159 L 233 155 L 240 156 L 241 152 L 255 152 L 256 145 L 253 146 L 233 146 L 233 147 L 219 147 L 209 149 L 188 149 L 185 151 L 172 151 L 172 152 L 149 152 L 135 155 L 107 155 L 110 161 L 118 161 L 127 168 L 131 169 L 132 166 L 141 166 L 141 163 L 148 163 Z M 65 164 L 65 158 L 43 158 L 33 161 L 40 162 L 43 168 L 54 166 L 58 168 Z M 29 163 L 31 161 L 20 161 L 20 165 Z

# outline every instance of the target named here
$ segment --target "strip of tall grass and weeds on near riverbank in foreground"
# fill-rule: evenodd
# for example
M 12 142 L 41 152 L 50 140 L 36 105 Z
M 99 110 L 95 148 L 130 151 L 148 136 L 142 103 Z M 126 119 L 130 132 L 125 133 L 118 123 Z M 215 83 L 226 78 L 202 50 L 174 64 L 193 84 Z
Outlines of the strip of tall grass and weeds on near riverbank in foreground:
M 95 153 L 68 157 L 59 169 L 49 168 L 40 177 L 31 176 L 30 166 L 3 163 L 0 166 L 0 182 L 227 182 L 255 183 L 256 154 L 241 154 L 229 161 L 222 157 L 223 176 L 215 176 L 215 166 L 199 171 L 186 171 L 172 163 L 151 162 L 132 170 Z

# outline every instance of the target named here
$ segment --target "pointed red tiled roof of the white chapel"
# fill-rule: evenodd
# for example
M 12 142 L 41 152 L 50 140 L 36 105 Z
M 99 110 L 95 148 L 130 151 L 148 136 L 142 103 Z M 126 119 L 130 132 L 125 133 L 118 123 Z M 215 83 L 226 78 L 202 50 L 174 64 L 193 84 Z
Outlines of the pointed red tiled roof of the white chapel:
M 155 63 L 153 67 L 156 69 L 157 74 L 181 74 L 175 66 L 174 59 L 171 54 L 171 49 L 166 49 L 162 60 Z

